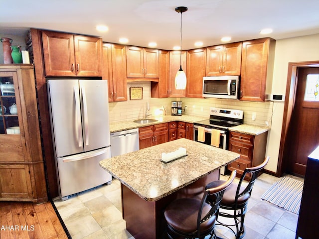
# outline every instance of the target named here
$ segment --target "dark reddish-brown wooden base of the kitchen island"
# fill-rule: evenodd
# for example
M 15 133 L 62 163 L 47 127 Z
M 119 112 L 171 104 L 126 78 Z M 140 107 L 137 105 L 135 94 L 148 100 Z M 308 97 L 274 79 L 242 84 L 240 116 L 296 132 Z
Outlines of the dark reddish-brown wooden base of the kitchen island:
M 122 216 L 126 229 L 135 239 L 165 238 L 166 222 L 164 210 L 169 203 L 178 198 L 202 198 L 204 187 L 219 179 L 219 170 L 187 185 L 158 201 L 145 201 L 135 192 L 121 184 Z

